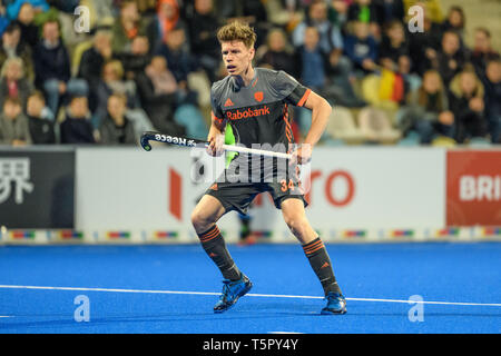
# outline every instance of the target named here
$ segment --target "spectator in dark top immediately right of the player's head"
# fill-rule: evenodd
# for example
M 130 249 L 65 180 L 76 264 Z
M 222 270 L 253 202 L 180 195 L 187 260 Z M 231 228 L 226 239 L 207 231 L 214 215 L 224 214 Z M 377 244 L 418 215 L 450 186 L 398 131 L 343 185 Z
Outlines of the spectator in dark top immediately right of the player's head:
M 265 52 L 258 60 L 259 67 L 267 67 L 274 70 L 283 70 L 286 73 L 298 77 L 297 63 L 295 63 L 294 51 L 287 46 L 285 32 L 275 28 L 268 33 Z

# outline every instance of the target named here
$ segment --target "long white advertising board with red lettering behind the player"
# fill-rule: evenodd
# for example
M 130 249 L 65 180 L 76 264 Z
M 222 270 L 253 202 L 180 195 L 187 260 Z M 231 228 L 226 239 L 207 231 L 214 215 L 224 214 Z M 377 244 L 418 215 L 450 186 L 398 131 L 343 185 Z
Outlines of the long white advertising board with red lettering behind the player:
M 444 167 L 443 149 L 317 148 L 308 175 L 303 171 L 307 217 L 321 235 L 343 230 L 343 239 L 379 238 L 369 229 L 405 236 L 445 226 Z M 151 231 L 144 240 L 168 240 L 168 233 L 155 231 L 177 231 L 180 241 L 197 241 L 191 211 L 223 169 L 224 157 L 203 149 L 79 148 L 76 229 Z M 256 197 L 249 215 L 263 240 L 295 240 L 268 194 Z M 238 240 L 236 212 L 218 225 L 229 243 Z

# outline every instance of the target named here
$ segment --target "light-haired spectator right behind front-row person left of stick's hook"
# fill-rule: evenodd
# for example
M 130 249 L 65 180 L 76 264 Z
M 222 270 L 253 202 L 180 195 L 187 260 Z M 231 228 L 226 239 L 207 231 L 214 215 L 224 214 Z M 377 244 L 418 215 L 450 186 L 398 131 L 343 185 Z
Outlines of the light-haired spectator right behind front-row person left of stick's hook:
M 114 92 L 124 93 L 127 97 L 128 107 L 138 106 L 136 83 L 124 79 L 124 66 L 117 59 L 111 59 L 102 66 L 101 80 L 97 88 L 97 108 L 92 116 L 92 125 L 99 128 L 106 117 L 108 98 Z

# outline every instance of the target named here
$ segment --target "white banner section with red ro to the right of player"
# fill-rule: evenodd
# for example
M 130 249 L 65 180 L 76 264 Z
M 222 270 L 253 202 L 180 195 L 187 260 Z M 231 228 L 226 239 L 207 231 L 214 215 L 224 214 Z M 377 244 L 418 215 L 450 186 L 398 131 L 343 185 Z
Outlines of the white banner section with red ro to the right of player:
M 444 167 L 442 149 L 315 149 L 308 217 L 315 228 L 354 238 L 367 229 L 444 226 Z

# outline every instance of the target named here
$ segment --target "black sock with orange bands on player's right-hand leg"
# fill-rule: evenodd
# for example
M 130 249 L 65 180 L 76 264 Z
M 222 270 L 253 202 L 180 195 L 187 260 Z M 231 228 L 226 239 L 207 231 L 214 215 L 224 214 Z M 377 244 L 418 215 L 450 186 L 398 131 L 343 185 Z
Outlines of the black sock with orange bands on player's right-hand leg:
M 324 288 L 325 295 L 330 291 L 342 294 L 340 286 L 337 285 L 336 277 L 334 277 L 331 258 L 328 257 L 324 243 L 322 243 L 320 237 L 306 245 L 303 245 L 303 249 L 308 258 L 310 265 Z

